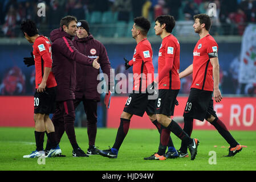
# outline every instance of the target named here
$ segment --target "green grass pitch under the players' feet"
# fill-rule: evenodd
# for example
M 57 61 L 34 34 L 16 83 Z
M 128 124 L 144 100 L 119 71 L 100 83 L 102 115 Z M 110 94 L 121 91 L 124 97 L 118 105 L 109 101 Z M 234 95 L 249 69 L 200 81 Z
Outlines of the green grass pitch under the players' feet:
M 98 129 L 96 146 L 101 150 L 112 146 L 117 129 Z M 159 134 L 156 130 L 130 129 L 117 159 L 103 158 L 100 155 L 89 158 L 73 158 L 72 147 L 64 134 L 60 147 L 66 158 L 46 158 L 45 165 L 39 165 L 38 159 L 23 159 L 23 155 L 35 150 L 34 129 L 32 128 L 0 128 L 0 170 L 91 170 L 91 171 L 158 171 L 158 170 L 255 170 L 256 169 L 256 132 L 231 131 L 237 141 L 247 146 L 235 157 L 226 158 L 228 144 L 217 131 L 194 130 L 192 137 L 200 139 L 197 158 L 144 160 L 157 151 Z M 79 146 L 86 151 L 88 137 L 86 128 L 76 128 Z M 172 134 L 176 148 L 180 147 L 180 139 Z M 46 139 L 46 137 L 45 137 Z M 214 147 L 215 146 L 215 147 Z M 217 147 L 216 147 L 217 146 Z M 224 146 L 225 148 L 223 148 Z M 209 164 L 210 151 L 216 152 L 216 164 Z

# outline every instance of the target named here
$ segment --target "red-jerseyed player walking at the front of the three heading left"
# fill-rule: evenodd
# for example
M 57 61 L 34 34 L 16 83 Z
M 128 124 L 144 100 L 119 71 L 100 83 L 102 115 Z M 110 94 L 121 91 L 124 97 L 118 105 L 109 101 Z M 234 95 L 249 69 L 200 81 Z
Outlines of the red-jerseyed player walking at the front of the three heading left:
M 117 152 L 128 133 L 130 121 L 133 115 L 143 117 L 143 114 L 146 111 L 149 119 L 151 119 L 152 123 L 157 127 L 159 133 L 161 133 L 161 126 L 156 121 L 156 115 L 154 114 L 155 99 L 151 100 L 149 98 L 150 91 L 147 89 L 151 87 L 154 80 L 152 48 L 147 39 L 147 32 L 150 27 L 151 23 L 148 19 L 143 17 L 134 19 L 132 38 L 136 40 L 137 46 L 133 53 L 133 59 L 130 61 L 125 59 L 125 67 L 127 69 L 133 65 L 133 93 L 129 94 L 123 113 L 121 114 L 120 126 L 117 131 L 115 143 L 109 150 L 100 151 L 100 155 L 102 156 L 117 158 Z M 174 148 L 170 137 L 168 146 Z M 176 151 L 175 148 L 174 150 Z

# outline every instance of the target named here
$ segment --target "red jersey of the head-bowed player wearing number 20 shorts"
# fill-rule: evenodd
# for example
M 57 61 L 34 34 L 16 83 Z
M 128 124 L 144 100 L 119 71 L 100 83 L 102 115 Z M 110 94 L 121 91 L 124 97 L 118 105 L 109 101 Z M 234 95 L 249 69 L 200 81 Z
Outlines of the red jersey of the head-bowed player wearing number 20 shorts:
M 33 55 L 35 60 L 35 88 L 37 89 L 43 79 L 44 68 L 52 67 L 51 43 L 45 36 L 40 35 L 35 39 L 33 44 Z M 52 72 L 50 72 L 46 81 L 46 87 L 52 88 L 56 86 L 56 80 Z

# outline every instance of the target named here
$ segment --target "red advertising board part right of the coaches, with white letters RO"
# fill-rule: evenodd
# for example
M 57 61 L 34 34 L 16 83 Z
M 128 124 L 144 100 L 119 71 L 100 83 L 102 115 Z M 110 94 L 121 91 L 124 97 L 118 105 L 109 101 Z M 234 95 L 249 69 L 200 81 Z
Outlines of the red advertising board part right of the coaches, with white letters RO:
M 183 125 L 183 111 L 188 97 L 178 97 L 179 105 L 175 107 L 174 121 Z M 120 115 L 127 97 L 112 97 L 111 106 L 107 113 L 107 127 L 119 127 Z M 256 98 L 253 97 L 224 97 L 220 103 L 214 102 L 214 109 L 218 118 L 225 123 L 229 130 L 256 130 Z M 134 115 L 131 119 L 131 128 L 155 129 L 147 113 L 143 117 Z M 194 121 L 193 129 L 214 130 L 207 121 Z

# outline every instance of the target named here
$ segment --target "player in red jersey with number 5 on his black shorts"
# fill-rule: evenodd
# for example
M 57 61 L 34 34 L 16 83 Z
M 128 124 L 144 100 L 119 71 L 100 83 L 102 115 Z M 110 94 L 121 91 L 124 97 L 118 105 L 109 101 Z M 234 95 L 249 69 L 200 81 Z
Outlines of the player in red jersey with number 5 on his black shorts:
M 155 32 L 162 39 L 159 50 L 159 78 L 158 89 L 159 96 L 156 99 L 155 113 L 157 121 L 162 125 L 160 137 L 161 147 L 159 151 L 145 160 L 165 160 L 165 150 L 168 143 L 170 132 L 172 131 L 178 138 L 189 147 L 191 160 L 197 155 L 197 146 L 199 140 L 190 138 L 181 127 L 170 117 L 174 113 L 174 106 L 178 91 L 180 90 L 180 78 L 178 71 L 180 69 L 180 44 L 171 34 L 175 20 L 173 16 L 161 15 L 156 18 Z M 157 79 L 156 79 L 157 81 Z

